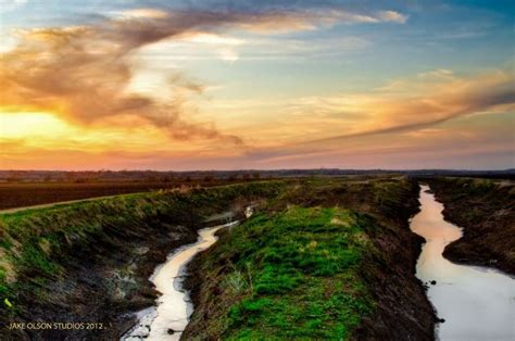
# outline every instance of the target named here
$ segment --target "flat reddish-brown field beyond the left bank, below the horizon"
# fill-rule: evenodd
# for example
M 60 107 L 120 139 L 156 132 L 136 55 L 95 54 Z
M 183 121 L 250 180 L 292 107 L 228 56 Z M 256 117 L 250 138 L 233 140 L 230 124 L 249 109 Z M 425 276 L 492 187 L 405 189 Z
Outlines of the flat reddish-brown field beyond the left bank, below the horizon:
M 0 210 L 42 205 L 63 201 L 89 198 L 148 192 L 160 189 L 173 189 L 181 186 L 219 186 L 236 182 L 233 180 L 203 179 L 173 181 L 41 181 L 41 182 L 0 182 Z

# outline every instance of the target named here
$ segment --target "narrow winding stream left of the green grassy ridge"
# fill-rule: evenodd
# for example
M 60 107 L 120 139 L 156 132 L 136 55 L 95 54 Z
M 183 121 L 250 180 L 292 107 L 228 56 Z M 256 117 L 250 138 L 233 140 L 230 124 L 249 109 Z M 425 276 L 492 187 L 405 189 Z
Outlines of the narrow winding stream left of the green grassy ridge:
M 216 241 L 215 232 L 218 229 L 235 224 L 237 222 L 199 230 L 196 243 L 179 248 L 168 256 L 166 263 L 155 269 L 150 280 L 162 293 L 158 306 L 138 313 L 138 325 L 122 340 L 180 339 L 192 313 L 188 293 L 183 290 L 185 266 L 198 252 L 208 249 Z

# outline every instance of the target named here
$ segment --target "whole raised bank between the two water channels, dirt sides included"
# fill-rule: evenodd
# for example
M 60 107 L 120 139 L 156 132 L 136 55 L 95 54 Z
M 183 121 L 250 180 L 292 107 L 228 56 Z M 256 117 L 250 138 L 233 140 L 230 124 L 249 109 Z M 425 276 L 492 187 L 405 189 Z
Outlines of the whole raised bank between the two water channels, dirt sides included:
M 407 223 L 417 197 L 403 178 L 289 188 L 190 263 L 184 339 L 434 340 Z

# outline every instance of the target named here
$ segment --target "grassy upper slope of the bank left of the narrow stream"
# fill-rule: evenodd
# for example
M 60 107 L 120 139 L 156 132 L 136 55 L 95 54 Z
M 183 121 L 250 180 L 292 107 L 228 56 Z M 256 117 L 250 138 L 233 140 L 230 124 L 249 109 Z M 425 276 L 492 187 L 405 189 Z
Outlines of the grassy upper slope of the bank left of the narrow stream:
M 0 215 L 1 323 L 34 320 L 30 301 L 43 306 L 42 310 L 48 306 L 43 320 L 59 318 L 52 316 L 55 299 L 73 299 L 84 281 L 71 278 L 71 269 L 84 264 L 126 266 L 116 257 L 134 254 L 135 245 L 152 235 L 169 239 L 169 232 L 174 231 L 174 238 L 184 240 L 191 236 L 194 240 L 194 229 L 202 226 L 206 216 L 235 205 L 243 206 L 259 198 L 277 195 L 284 186 L 280 181 L 260 181 L 128 194 Z M 179 225 L 186 230 L 174 227 Z M 159 242 L 159 239 L 154 241 Z M 134 275 L 127 270 L 121 276 Z M 131 283 L 134 280 L 125 281 Z M 133 287 L 138 290 L 137 286 Z M 108 296 L 116 295 L 112 283 L 105 283 L 102 289 L 112 291 L 105 293 Z M 115 303 L 125 304 L 123 299 Z M 125 298 L 125 301 L 128 300 Z M 40 313 L 45 314 L 43 311 Z

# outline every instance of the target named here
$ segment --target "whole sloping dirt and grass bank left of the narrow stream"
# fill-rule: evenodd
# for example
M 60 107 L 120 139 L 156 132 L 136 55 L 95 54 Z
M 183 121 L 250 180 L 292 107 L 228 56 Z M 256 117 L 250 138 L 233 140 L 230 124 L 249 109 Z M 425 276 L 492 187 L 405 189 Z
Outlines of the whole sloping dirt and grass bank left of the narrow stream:
M 134 194 L 0 216 L 0 339 L 120 338 L 134 319 L 127 313 L 154 304 L 154 267 L 194 242 L 198 228 L 218 223 L 205 218 L 228 210 L 242 215 L 282 186 Z M 9 329 L 12 323 L 25 327 Z M 77 324 L 63 330 L 48 323 Z

